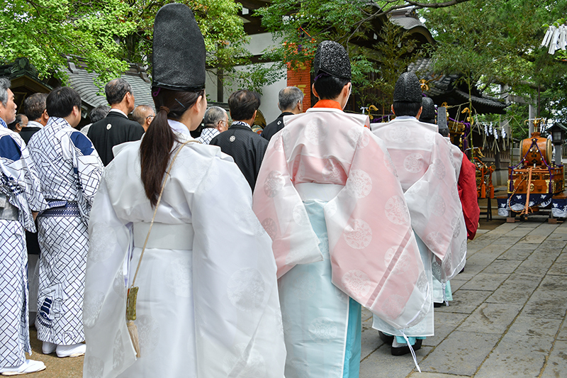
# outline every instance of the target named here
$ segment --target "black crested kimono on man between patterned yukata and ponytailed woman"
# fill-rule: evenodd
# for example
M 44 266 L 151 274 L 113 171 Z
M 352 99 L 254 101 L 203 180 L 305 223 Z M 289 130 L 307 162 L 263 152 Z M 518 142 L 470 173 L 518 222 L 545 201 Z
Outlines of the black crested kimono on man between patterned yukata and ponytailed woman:
M 144 128 L 136 121 L 130 121 L 118 111 L 110 111 L 106 118 L 96 121 L 89 128 L 86 136 L 99 152 L 99 156 L 106 167 L 110 163 L 114 155 L 112 148 L 120 143 L 132 142 L 140 140 L 144 134 Z

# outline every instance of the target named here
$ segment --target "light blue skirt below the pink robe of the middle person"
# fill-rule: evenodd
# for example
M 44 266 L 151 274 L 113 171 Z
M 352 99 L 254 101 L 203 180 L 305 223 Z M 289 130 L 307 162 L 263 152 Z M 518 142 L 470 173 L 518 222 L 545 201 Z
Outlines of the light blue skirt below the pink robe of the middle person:
M 357 378 L 361 306 L 331 282 L 326 201 L 303 201 L 325 260 L 296 265 L 279 279 L 286 378 Z

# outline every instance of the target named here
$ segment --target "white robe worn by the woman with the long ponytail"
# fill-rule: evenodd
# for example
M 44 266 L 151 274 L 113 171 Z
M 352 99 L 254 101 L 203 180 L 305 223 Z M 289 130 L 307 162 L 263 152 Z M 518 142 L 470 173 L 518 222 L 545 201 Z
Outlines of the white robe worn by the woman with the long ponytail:
M 192 139 L 185 130 L 178 137 Z M 269 237 L 232 158 L 199 143 L 179 152 L 142 257 L 135 357 L 123 266 L 130 262 L 129 287 L 154 209 L 140 179 L 140 141 L 114 152 L 89 223 L 83 377 L 282 378 L 286 350 Z

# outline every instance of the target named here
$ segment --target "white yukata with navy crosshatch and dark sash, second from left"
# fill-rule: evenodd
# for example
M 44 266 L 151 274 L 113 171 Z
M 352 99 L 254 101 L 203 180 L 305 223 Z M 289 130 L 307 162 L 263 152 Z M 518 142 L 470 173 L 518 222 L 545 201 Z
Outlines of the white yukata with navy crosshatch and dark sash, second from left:
M 103 164 L 89 138 L 64 118 L 51 117 L 29 149 L 49 205 L 38 216 L 38 339 L 82 343 L 87 225 Z

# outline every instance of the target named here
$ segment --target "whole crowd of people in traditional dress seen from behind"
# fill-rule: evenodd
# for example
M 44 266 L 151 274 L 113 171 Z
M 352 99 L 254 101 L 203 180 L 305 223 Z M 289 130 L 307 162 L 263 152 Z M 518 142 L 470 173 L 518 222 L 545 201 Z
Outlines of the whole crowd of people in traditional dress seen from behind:
M 303 113 L 281 89 L 259 135 L 254 91 L 208 108 L 205 57 L 191 9 L 163 6 L 155 106 L 114 79 L 80 131 L 74 89 L 16 114 L 0 78 L 0 374 L 45 369 L 26 359 L 30 321 L 44 354 L 85 355 L 87 378 L 358 377 L 362 306 L 392 355 L 434 334 L 479 212 L 475 168 L 415 74 L 371 124 L 343 111 L 349 57 L 324 41 L 319 101 Z

